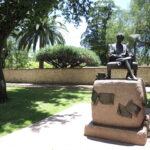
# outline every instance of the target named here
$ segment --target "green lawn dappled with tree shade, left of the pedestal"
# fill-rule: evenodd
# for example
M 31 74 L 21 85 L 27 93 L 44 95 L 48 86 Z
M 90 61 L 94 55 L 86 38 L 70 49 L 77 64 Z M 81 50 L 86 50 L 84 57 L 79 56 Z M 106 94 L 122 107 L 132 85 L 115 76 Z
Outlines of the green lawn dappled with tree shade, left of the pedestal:
M 90 102 L 91 91 L 8 88 L 9 101 L 0 104 L 0 136 L 35 123 L 79 102 Z

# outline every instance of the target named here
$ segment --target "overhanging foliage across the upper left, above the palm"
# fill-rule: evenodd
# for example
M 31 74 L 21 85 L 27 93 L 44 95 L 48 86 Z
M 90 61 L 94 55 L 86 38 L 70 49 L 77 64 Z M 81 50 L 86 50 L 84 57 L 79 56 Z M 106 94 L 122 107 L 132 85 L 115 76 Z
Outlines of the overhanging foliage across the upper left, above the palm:
M 86 16 L 91 5 L 90 0 L 3 0 L 0 2 L 0 51 L 10 33 L 17 28 L 20 30 L 27 20 L 30 24 L 55 14 L 54 10 L 61 10 L 65 19 L 79 24 L 82 16 Z

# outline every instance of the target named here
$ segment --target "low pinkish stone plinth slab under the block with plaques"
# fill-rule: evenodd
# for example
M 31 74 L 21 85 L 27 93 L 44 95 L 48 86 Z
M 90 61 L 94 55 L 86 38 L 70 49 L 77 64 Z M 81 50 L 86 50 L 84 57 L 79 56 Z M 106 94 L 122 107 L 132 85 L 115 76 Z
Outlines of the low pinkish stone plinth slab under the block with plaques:
M 149 116 L 147 117 L 150 118 Z M 145 120 L 140 128 L 122 128 L 90 122 L 85 126 L 84 135 L 100 137 L 125 143 L 145 145 L 147 141 L 150 119 Z

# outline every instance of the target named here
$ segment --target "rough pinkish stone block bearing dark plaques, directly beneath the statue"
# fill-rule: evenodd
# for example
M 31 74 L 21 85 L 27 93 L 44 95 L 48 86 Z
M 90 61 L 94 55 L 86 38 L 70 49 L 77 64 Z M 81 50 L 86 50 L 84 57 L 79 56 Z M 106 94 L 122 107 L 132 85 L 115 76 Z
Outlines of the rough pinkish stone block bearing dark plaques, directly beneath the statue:
M 92 94 L 95 123 L 140 127 L 145 116 L 146 92 L 142 79 L 96 80 Z

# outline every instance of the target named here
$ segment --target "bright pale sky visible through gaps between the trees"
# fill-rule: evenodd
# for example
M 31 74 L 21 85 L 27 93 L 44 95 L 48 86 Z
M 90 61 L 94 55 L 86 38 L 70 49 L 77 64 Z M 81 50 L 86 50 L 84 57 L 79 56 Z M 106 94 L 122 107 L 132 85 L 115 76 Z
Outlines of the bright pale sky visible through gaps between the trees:
M 127 10 L 130 5 L 130 0 L 114 0 L 115 4 L 119 6 L 121 9 Z M 66 45 L 81 47 L 80 45 L 80 37 L 82 33 L 86 30 L 87 24 L 83 20 L 78 28 L 75 28 L 73 24 L 66 23 L 65 24 L 68 32 L 63 33 Z

